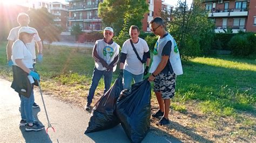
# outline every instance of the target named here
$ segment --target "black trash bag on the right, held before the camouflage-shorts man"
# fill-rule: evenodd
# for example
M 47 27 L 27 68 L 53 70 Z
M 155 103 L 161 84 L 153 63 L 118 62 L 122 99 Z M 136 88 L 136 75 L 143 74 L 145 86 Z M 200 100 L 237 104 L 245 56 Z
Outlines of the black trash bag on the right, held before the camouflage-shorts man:
M 131 142 L 141 142 L 150 128 L 151 86 L 144 80 L 123 90 L 117 100 L 117 116 Z

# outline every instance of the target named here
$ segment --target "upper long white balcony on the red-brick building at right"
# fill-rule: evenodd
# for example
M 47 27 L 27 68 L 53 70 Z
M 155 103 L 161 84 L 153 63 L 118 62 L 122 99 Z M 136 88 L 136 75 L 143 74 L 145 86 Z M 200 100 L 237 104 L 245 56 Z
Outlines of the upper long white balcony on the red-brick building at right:
M 247 9 L 212 9 L 208 17 L 247 17 Z

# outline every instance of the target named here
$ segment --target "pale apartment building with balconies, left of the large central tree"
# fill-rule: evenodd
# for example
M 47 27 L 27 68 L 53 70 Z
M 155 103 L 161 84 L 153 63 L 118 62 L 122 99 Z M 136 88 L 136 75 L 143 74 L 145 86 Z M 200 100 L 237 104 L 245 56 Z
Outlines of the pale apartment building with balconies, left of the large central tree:
M 103 0 L 66 0 L 69 2 L 69 30 L 79 24 L 84 32 L 102 31 L 98 6 Z

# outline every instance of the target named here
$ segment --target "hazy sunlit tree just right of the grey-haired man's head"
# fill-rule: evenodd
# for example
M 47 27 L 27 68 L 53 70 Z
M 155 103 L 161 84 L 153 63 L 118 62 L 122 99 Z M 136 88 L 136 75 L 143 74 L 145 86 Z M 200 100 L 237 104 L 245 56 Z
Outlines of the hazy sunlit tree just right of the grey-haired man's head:
M 55 25 L 52 14 L 46 8 L 30 9 L 28 15 L 30 17 L 29 25 L 36 28 L 42 43 L 44 40 L 48 40 L 48 48 L 50 48 L 52 41 L 59 41 L 62 29 Z

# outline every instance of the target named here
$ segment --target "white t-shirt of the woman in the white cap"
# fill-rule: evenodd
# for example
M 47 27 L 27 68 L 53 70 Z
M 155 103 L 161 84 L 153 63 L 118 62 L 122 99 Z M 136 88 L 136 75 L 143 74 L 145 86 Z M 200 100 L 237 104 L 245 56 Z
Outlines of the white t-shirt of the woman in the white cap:
M 11 60 L 15 66 L 18 66 L 15 62 L 16 59 L 22 59 L 22 62 L 27 68 L 33 68 L 32 54 L 21 40 L 16 40 L 12 45 Z

